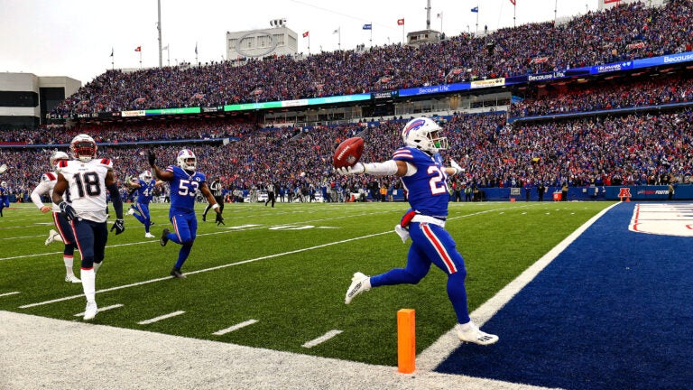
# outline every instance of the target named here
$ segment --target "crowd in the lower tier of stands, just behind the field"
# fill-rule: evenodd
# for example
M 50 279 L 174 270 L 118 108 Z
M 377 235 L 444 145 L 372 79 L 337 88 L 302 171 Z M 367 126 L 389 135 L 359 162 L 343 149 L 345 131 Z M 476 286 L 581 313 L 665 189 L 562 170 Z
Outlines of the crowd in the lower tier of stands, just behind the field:
M 693 172 L 693 110 L 689 107 L 660 114 L 587 116 L 516 125 L 508 125 L 505 119 L 504 112 L 439 117 L 451 145 L 445 156 L 465 168 L 464 185 L 662 184 L 688 182 Z M 401 144 L 405 121 L 305 129 L 257 128 L 228 144 L 216 141 L 186 147 L 198 155 L 199 169 L 209 177 L 221 177 L 228 192 L 262 190 L 270 182 L 303 196 L 322 188 L 358 192 L 384 186 L 393 190 L 401 185 L 393 177 L 373 183 L 365 176 L 336 174 L 331 167 L 332 154 L 341 140 L 359 135 L 365 138 L 364 161 L 388 159 Z M 152 145 L 160 161 L 170 163 L 174 163 L 181 147 Z M 98 154 L 114 160 L 118 177 L 123 180 L 147 168 L 147 149 L 141 145 L 111 145 L 100 147 Z M 0 162 L 11 162 L 12 170 L 5 176 L 14 193 L 32 190 L 42 172 L 50 169 L 51 151 L 0 149 Z

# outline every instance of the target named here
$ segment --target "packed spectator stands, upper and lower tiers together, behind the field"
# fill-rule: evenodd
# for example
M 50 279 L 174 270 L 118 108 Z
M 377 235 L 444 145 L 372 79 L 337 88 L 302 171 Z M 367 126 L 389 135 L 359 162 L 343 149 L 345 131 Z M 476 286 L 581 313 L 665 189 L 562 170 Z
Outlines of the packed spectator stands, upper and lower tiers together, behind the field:
M 636 3 L 559 25 L 533 23 L 481 37 L 461 34 L 418 47 L 393 44 L 131 73 L 108 70 L 53 110 L 67 123 L 0 132 L 0 163 L 13 162 L 12 174 L 4 180 L 22 199 L 49 169 L 51 152 L 65 150 L 74 135 L 87 133 L 97 140 L 99 155 L 115 161 L 121 179 L 147 167 L 148 149 L 162 162 L 173 163 L 185 145 L 197 153 L 200 171 L 219 176 L 229 194 L 263 189 L 269 182 L 291 192 L 392 191 L 401 185 L 393 177 L 373 183 L 365 176 L 338 175 L 332 153 L 340 140 L 358 135 L 365 138 L 364 161 L 386 160 L 401 144 L 402 125 L 430 114 L 450 140 L 446 159 L 465 168 L 456 188 L 688 183 L 693 172 L 691 62 L 688 68 L 684 62 L 490 88 L 513 98 L 476 110 L 450 107 L 282 126 L 273 126 L 257 110 L 130 121 L 80 120 L 79 115 L 565 75 L 584 67 L 690 52 L 691 20 L 690 0 L 671 0 L 661 7 Z

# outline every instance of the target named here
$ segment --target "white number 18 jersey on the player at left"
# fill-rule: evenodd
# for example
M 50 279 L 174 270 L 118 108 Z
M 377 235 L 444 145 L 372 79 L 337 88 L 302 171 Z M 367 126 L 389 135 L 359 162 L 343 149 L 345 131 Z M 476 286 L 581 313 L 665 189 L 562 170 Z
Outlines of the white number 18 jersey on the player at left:
M 77 216 L 94 222 L 106 222 L 106 173 L 113 171 L 109 159 L 61 161 L 56 172 L 68 181 L 69 203 Z

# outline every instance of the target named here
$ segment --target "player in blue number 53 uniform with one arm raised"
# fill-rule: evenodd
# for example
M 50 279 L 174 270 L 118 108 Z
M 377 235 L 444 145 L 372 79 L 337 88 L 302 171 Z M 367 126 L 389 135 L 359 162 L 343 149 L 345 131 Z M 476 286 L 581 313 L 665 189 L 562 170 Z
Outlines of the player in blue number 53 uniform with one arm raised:
M 168 228 L 164 228 L 160 243 L 166 246 L 171 240 L 180 245 L 178 260 L 171 269 L 171 276 L 185 278 L 180 268 L 188 259 L 198 233 L 198 218 L 195 216 L 195 196 L 198 190 L 217 213 L 217 226 L 224 223 L 224 218 L 221 217 L 221 209 L 209 190 L 204 173 L 196 172 L 198 159 L 195 153 L 189 149 L 181 150 L 176 158 L 178 166 L 169 165 L 165 171 L 156 166 L 156 155 L 152 151 L 148 154 L 148 160 L 156 177 L 171 184 L 169 219 L 173 225 L 173 233 Z

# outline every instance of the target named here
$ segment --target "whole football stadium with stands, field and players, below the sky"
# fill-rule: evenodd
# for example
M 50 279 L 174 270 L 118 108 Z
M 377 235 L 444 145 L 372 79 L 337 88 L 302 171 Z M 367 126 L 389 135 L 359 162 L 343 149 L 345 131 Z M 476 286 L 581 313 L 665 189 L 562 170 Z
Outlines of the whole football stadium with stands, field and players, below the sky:
M 693 1 L 430 9 L 0 74 L 0 389 L 693 388 Z

